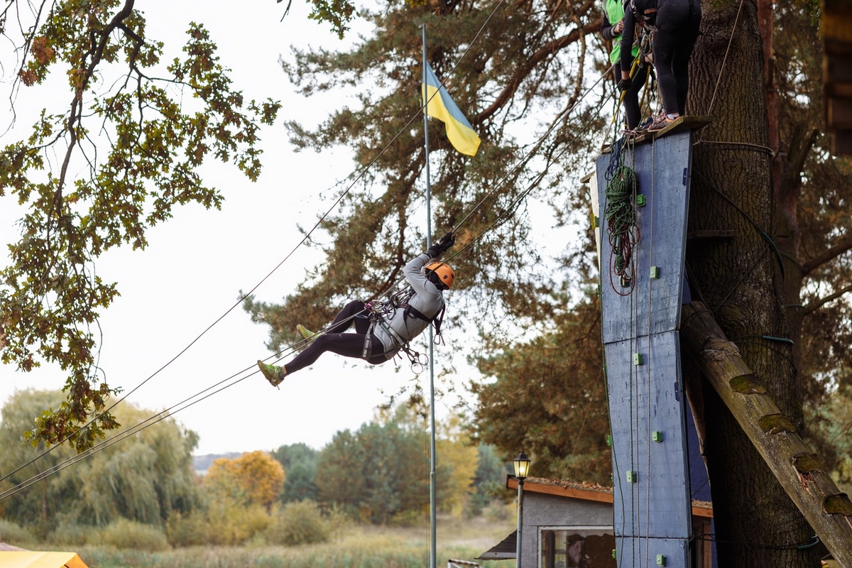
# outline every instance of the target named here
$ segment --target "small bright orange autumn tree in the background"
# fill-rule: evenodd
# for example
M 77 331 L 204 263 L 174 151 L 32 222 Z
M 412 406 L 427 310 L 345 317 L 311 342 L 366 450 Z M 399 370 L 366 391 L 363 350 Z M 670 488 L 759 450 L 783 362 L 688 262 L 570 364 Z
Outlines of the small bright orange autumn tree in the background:
M 216 496 L 261 505 L 269 512 L 284 488 L 284 479 L 281 464 L 267 452 L 256 450 L 213 462 L 204 477 L 204 485 Z

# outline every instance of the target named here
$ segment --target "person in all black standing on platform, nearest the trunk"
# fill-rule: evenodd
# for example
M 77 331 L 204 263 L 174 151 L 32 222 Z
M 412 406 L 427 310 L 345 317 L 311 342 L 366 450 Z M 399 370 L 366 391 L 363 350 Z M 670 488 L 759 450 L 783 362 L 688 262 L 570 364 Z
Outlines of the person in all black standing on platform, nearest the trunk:
M 630 47 L 635 25 L 653 27 L 653 65 L 657 70 L 663 112 L 648 126 L 662 130 L 685 112 L 689 91 L 689 57 L 701 25 L 699 0 L 629 0 L 621 35 L 621 78 L 630 82 Z

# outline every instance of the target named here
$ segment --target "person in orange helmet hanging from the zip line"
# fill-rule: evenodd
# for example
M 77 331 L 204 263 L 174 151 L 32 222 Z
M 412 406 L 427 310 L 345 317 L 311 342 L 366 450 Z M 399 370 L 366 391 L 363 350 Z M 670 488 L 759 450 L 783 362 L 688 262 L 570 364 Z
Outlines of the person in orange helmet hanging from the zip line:
M 407 353 L 408 342 L 419 336 L 433 320 L 440 332 L 439 316 L 443 316 L 444 310 L 441 292 L 452 287 L 455 273 L 449 265 L 437 259 L 455 242 L 452 232 L 448 232 L 438 244 L 433 244 L 406 264 L 402 272 L 412 294 L 403 302 L 404 305 L 394 305 L 389 311 L 377 313 L 371 305 L 355 300 L 343 307 L 323 332 L 314 334 L 300 325 L 299 331 L 309 341 L 308 347 L 282 366 L 258 360 L 257 366 L 263 376 L 277 387 L 285 376 L 314 364 L 327 351 L 343 357 L 365 359 L 369 364 L 380 364 L 393 359 L 400 349 Z M 353 324 L 354 333 L 343 333 Z

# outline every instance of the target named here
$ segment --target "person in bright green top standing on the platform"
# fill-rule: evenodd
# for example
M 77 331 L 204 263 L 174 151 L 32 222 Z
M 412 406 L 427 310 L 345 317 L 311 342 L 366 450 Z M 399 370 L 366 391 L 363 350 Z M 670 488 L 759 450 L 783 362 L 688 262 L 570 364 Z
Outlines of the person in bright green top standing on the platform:
M 634 45 L 630 49 L 631 63 L 627 67 L 628 81 L 621 80 L 621 32 L 625 29 L 625 8 L 621 4 L 621 0 L 604 0 L 603 3 L 603 22 L 601 24 L 601 36 L 613 43 L 613 49 L 609 52 L 609 62 L 613 64 L 615 72 L 615 83 L 624 93 L 625 115 L 627 116 L 627 130 L 632 132 L 639 126 L 639 121 L 642 119 L 642 112 L 639 108 L 639 91 L 642 90 L 642 85 L 645 84 L 645 79 L 648 77 L 648 68 L 650 65 L 643 59 L 636 66 L 636 72 L 633 77 L 630 77 L 630 67 L 632 61 L 639 56 L 639 46 Z M 610 23 L 610 22 L 615 22 Z

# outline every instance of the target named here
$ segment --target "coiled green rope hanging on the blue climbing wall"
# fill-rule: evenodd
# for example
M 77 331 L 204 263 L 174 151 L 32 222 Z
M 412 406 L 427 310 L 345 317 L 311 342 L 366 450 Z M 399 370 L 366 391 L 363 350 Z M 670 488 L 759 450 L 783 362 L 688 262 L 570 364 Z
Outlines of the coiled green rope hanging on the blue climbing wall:
M 625 165 L 619 165 L 607 184 L 607 234 L 613 250 L 614 273 L 626 280 L 630 273 L 630 256 L 634 240 L 631 229 L 636 226 L 636 208 L 633 206 L 633 194 L 636 192 L 636 173 Z

